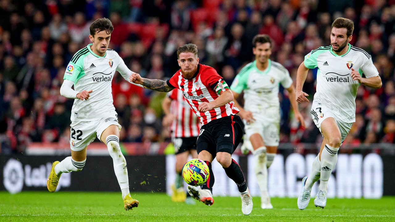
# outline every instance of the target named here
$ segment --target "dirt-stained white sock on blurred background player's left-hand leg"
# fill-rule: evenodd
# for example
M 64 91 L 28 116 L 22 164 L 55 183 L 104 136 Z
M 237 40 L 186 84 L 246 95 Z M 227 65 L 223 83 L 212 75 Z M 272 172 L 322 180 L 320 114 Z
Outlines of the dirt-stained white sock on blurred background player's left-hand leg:
M 253 152 L 255 156 L 255 175 L 261 194 L 267 196 L 267 156 L 266 147 L 259 147 Z

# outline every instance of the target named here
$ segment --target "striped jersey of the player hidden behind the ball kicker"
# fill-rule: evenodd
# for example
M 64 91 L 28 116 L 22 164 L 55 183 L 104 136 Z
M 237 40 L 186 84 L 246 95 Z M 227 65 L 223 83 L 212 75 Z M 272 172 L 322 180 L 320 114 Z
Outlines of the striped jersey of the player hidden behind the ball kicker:
M 170 113 L 177 117 L 170 126 L 171 137 L 198 136 L 201 124 L 182 93 L 173 89 L 167 96 L 171 99 Z

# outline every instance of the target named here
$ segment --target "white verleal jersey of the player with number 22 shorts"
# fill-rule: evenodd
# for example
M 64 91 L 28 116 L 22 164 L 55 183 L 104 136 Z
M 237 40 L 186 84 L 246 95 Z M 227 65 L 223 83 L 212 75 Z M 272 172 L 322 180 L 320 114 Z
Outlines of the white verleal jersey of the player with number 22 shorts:
M 107 49 L 105 55 L 100 57 L 92 52 L 91 45 L 75 53 L 64 73 L 63 79 L 73 81 L 75 91 L 93 90 L 88 100 L 74 100 L 71 121 L 92 121 L 117 115 L 111 81 L 115 71 L 119 71 L 124 79 L 132 75 L 117 52 Z

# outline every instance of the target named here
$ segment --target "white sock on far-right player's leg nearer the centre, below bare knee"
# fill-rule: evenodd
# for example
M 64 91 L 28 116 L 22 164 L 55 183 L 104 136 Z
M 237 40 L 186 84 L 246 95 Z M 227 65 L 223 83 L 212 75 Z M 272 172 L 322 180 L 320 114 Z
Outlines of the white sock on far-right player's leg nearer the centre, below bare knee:
M 337 163 L 337 151 L 339 151 L 339 147 L 331 147 L 327 144 L 322 150 L 320 190 L 328 191 L 328 180 Z

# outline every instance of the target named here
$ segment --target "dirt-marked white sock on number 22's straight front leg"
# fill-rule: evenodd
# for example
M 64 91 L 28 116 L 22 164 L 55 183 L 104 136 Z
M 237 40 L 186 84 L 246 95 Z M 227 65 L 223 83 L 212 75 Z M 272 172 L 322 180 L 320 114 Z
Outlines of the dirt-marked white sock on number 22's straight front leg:
M 105 142 L 107 143 L 108 152 L 110 153 L 111 158 L 113 158 L 114 172 L 115 176 L 117 176 L 123 199 L 129 193 L 129 178 L 126 160 L 121 152 L 119 138 L 116 135 L 107 136 L 107 138 L 105 138 Z

